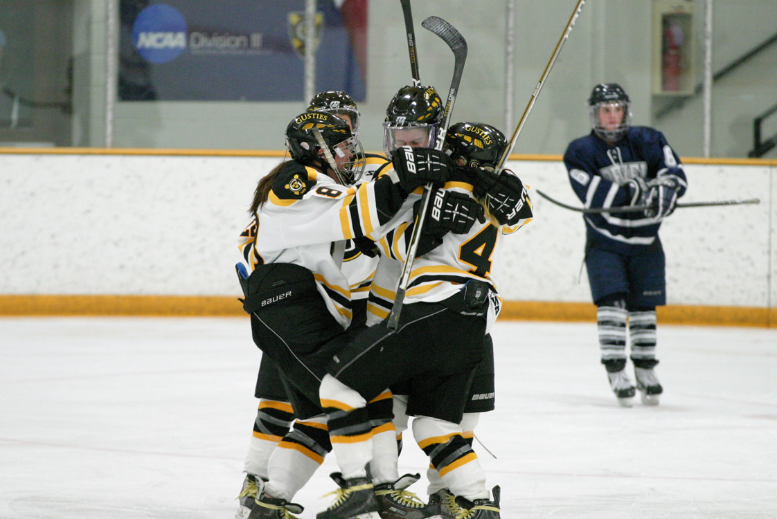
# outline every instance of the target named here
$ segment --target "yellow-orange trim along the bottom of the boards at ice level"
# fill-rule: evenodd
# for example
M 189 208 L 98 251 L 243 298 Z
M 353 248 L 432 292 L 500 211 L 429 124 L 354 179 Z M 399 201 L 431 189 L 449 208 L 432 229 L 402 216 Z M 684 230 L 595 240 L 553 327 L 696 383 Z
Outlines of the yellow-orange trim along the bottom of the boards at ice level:
M 248 317 L 238 296 L 0 294 L 0 317 L 149 316 Z M 667 305 L 657 308 L 658 322 L 688 326 L 777 328 L 777 308 Z M 592 303 L 503 301 L 500 321 L 596 322 Z

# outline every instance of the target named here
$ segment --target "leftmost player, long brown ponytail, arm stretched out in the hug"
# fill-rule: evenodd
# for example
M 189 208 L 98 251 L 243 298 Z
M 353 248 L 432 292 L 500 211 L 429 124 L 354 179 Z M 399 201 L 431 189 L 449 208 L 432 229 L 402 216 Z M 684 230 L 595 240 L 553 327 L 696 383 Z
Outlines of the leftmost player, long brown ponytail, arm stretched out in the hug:
M 318 385 L 324 363 L 347 341 L 352 317 L 350 283 L 340 268 L 346 240 L 379 237 L 408 192 L 448 175 L 444 164 L 424 164 L 354 186 L 361 146 L 344 120 L 326 112 L 295 117 L 287 146 L 292 160 L 256 187 L 255 218 L 241 238 L 253 272 L 241 284 L 254 341 L 279 367 L 298 422 L 287 435 L 295 447 L 276 449 L 269 482 L 256 480 L 249 517 L 301 510 L 289 501 L 331 448 Z

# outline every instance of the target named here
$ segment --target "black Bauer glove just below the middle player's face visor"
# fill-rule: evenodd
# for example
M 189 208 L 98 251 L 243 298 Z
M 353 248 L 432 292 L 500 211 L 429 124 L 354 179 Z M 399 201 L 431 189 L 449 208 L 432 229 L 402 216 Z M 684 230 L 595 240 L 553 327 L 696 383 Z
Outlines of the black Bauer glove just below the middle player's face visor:
M 427 183 L 443 186 L 451 176 L 451 158 L 434 148 L 404 146 L 394 152 L 394 171 L 399 185 L 407 193 Z

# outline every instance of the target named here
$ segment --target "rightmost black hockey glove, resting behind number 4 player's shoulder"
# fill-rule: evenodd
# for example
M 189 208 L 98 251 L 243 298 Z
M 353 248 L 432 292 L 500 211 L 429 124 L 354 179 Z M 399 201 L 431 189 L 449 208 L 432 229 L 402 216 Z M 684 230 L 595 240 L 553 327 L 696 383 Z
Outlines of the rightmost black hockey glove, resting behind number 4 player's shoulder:
M 493 168 L 476 168 L 472 194 L 484 200 L 489 212 L 500 225 L 515 225 L 524 218 L 531 218 L 531 202 L 524 184 L 507 170 L 497 175 Z

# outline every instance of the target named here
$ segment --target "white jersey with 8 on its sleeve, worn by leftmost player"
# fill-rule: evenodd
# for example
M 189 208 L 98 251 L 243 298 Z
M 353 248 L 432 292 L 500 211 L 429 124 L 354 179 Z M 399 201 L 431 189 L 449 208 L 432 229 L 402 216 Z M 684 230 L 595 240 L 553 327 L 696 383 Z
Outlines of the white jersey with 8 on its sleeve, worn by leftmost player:
M 378 239 L 404 199 L 386 177 L 341 186 L 311 167 L 290 161 L 278 172 L 267 203 L 242 232 L 239 249 L 250 270 L 265 263 L 293 263 L 310 270 L 329 312 L 347 328 L 352 316 L 351 284 L 343 273 L 347 240 Z M 364 255 L 360 255 L 364 256 Z M 371 261 L 368 256 L 365 259 Z M 374 265 L 354 263 L 354 277 L 371 276 Z

